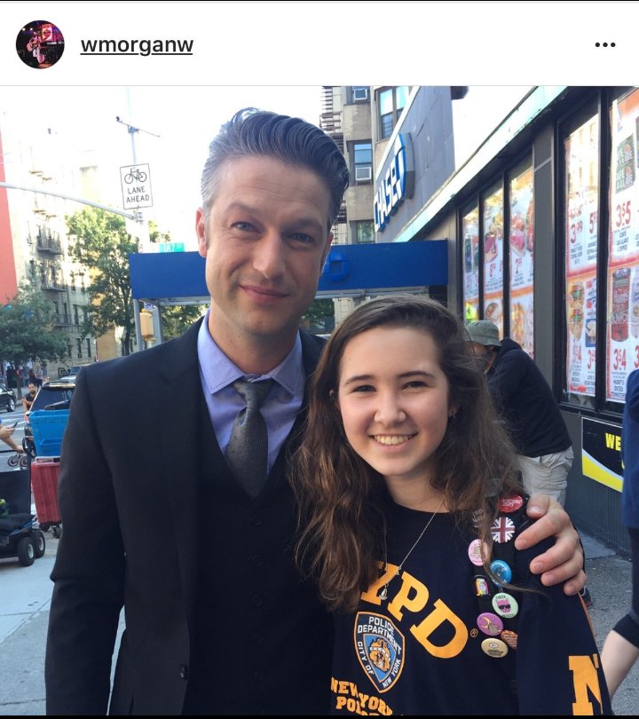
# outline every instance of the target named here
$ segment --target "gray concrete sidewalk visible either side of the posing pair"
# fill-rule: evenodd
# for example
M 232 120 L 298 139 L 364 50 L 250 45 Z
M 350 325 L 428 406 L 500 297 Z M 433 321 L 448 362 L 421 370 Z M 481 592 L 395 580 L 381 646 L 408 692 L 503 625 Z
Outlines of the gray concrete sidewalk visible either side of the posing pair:
M 58 540 L 46 535 L 44 557 L 23 567 L 0 559 L 0 715 L 44 714 L 44 645 Z M 600 542 L 582 536 L 588 557 L 590 609 L 601 650 L 608 631 L 630 606 L 630 562 Z M 543 691 L 543 687 L 540 687 Z M 639 714 L 639 666 L 635 665 L 613 702 L 616 715 Z

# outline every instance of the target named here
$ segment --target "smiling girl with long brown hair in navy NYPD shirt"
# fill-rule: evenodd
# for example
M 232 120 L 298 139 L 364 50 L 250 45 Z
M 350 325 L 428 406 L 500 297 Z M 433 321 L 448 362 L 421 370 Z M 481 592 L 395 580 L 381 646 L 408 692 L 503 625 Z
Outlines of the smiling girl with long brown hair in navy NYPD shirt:
M 296 458 L 331 714 L 611 715 L 588 612 L 514 547 L 517 458 L 452 312 L 386 296 L 343 320 Z

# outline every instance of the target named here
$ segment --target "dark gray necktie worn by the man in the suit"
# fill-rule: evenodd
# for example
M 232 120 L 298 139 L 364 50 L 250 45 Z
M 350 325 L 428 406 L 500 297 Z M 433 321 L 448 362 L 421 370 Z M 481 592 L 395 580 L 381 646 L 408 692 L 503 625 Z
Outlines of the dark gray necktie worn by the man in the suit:
M 233 388 L 247 403 L 235 417 L 231 439 L 226 447 L 226 462 L 245 492 L 251 497 L 260 493 L 266 481 L 268 432 L 260 407 L 272 387 L 272 380 L 248 382 L 237 380 Z

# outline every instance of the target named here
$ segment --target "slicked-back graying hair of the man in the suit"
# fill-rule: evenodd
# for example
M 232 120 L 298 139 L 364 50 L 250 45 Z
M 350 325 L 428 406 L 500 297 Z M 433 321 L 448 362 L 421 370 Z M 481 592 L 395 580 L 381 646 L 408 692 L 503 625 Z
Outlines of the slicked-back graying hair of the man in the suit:
M 225 162 L 240 157 L 272 157 L 286 164 L 312 170 L 330 193 L 328 229 L 335 222 L 349 171 L 343 154 L 326 132 L 300 117 L 245 107 L 220 128 L 209 145 L 209 157 L 201 176 L 201 199 L 208 219 Z

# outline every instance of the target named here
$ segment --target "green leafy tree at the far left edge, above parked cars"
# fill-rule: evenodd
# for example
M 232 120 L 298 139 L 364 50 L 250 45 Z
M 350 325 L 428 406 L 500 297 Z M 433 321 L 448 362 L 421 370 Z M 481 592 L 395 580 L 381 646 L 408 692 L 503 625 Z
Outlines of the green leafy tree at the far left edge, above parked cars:
M 55 328 L 55 306 L 34 285 L 23 283 L 0 304 L 0 358 L 19 367 L 28 359 L 48 363 L 67 356 L 67 335 Z

